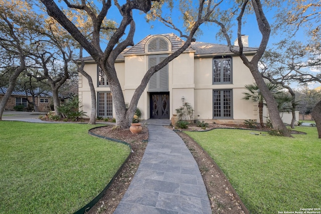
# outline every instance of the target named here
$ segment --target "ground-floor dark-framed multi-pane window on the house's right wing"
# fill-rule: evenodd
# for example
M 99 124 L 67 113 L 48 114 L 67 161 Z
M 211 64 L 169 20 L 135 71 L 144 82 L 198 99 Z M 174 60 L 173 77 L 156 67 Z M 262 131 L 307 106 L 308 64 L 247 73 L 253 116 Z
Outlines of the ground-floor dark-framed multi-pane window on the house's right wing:
M 213 90 L 213 118 L 233 118 L 232 90 Z

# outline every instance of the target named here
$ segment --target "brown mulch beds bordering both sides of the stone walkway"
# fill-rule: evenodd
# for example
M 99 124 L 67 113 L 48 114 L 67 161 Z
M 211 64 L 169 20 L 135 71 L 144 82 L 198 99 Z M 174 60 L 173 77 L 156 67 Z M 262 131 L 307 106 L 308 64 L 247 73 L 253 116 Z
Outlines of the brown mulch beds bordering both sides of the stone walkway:
M 211 128 L 228 128 L 226 125 L 212 125 Z M 168 128 L 173 129 L 172 126 Z M 189 126 L 187 130 L 203 130 L 196 127 L 195 124 Z M 206 129 L 208 130 L 208 129 Z M 204 131 L 204 130 L 203 130 Z M 107 193 L 99 202 L 91 208 L 88 213 L 113 213 L 126 189 L 128 188 L 131 179 L 133 178 L 139 163 L 142 159 L 143 152 L 147 145 L 148 130 L 143 126 L 143 131 L 140 134 L 131 134 L 129 129 L 113 129 L 112 126 L 104 126 L 96 128 L 93 133 L 119 139 L 129 143 L 133 153 L 130 159 L 125 163 L 119 175 L 115 178 Z M 188 148 L 191 150 L 195 160 L 197 161 L 203 180 L 205 182 L 213 213 L 247 213 L 247 210 L 240 198 L 230 185 L 222 171 L 217 167 L 215 162 L 206 152 L 188 135 L 178 132 Z

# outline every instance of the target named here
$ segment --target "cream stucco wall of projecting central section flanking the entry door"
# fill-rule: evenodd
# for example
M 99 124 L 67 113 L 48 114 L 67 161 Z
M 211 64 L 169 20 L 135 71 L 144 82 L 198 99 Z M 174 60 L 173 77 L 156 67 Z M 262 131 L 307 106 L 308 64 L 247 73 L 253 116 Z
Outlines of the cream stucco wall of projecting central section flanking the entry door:
M 148 55 L 125 57 L 125 102 L 129 103 L 134 90 L 138 87 L 141 79 L 148 69 Z M 175 109 L 189 102 L 194 107 L 194 54 L 184 53 L 168 64 L 169 69 L 169 92 L 170 92 L 170 115 Z M 142 112 L 141 119 L 150 117 L 150 104 L 148 85 L 142 93 L 137 107 Z

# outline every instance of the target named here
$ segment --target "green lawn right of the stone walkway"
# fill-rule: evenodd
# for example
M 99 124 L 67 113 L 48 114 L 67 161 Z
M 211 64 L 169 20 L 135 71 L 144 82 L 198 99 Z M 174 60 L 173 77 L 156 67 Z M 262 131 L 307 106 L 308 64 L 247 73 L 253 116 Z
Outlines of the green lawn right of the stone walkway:
M 321 208 L 321 139 L 315 127 L 295 130 L 307 135 L 235 129 L 186 133 L 220 166 L 251 213 L 294 213 Z

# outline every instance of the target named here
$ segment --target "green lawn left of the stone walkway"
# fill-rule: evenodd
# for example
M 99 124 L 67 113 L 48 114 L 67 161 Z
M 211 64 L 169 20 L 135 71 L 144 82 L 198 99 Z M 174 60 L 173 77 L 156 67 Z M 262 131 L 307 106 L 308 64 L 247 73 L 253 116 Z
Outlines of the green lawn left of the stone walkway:
M 130 149 L 93 127 L 0 121 L 0 213 L 73 213 L 96 197 Z

